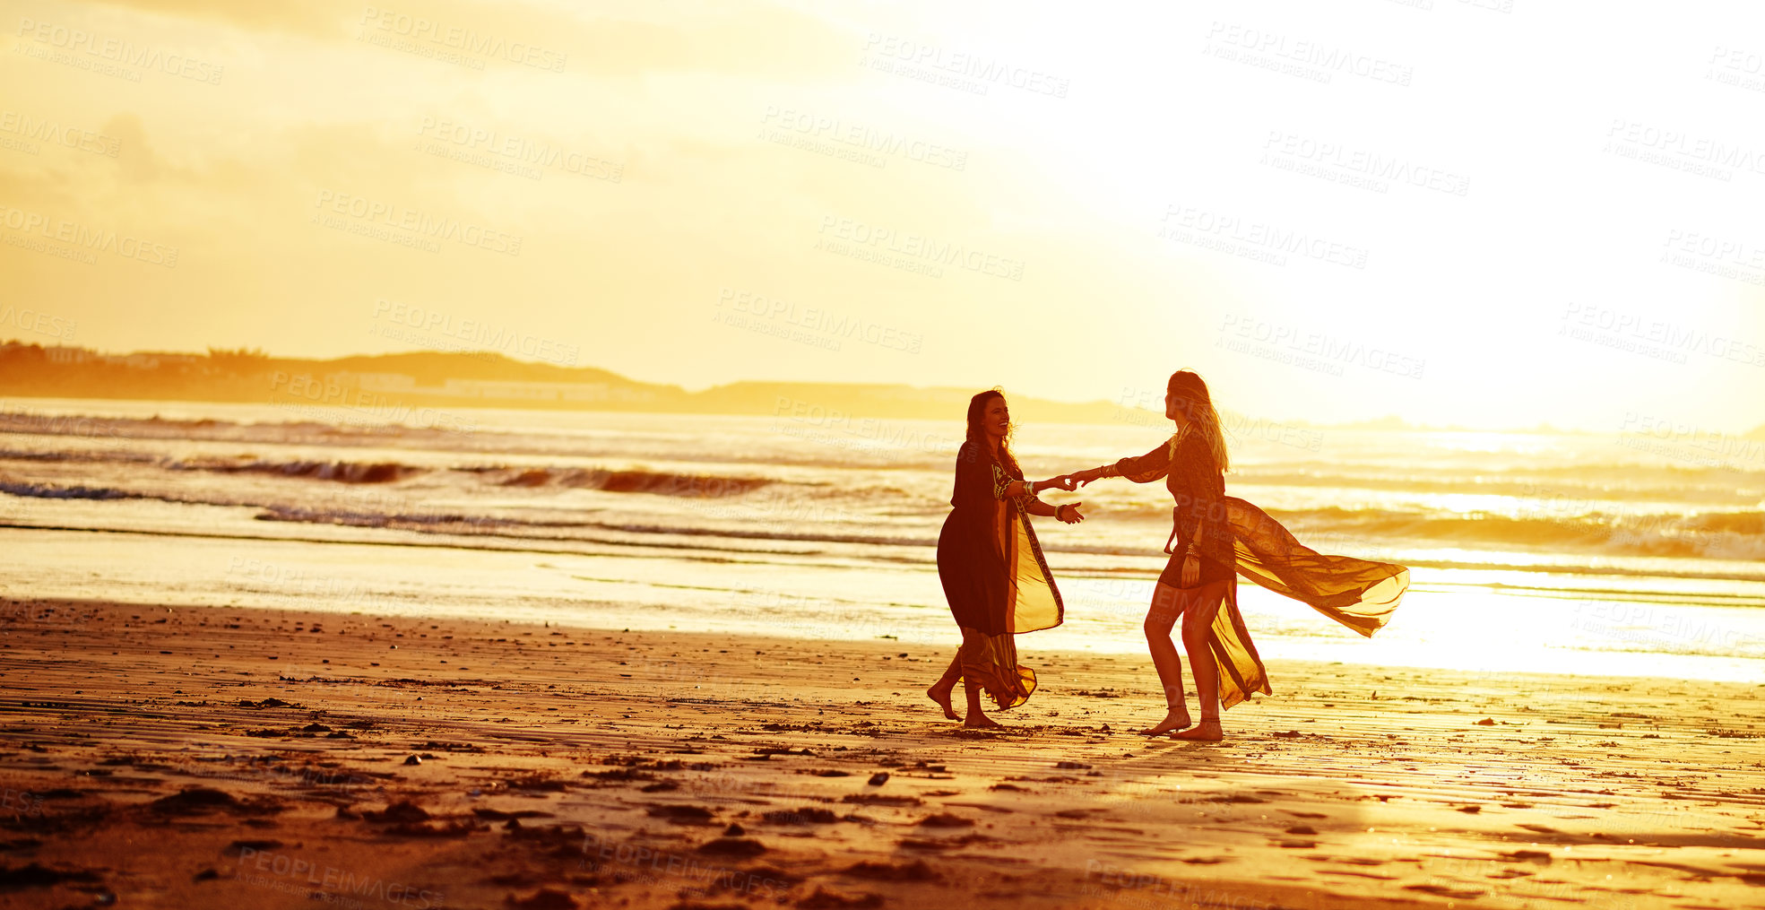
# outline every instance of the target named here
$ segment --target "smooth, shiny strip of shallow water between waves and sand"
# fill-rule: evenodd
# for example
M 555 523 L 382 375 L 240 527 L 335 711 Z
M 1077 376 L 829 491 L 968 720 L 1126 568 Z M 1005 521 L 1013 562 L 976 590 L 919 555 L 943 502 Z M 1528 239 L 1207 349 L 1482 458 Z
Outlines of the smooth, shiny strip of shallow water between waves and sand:
M 665 631 L 699 627 L 718 634 L 780 634 L 805 640 L 897 636 L 943 647 L 953 627 L 930 565 L 826 564 L 812 555 L 736 560 L 720 551 L 644 551 L 627 546 L 485 546 L 484 541 L 417 532 L 258 523 L 254 537 L 212 534 L 240 509 L 192 512 L 187 530 L 9 527 L 0 548 L 0 590 L 44 597 L 166 597 L 187 604 L 289 610 L 323 604 L 337 615 L 376 611 L 471 618 L 484 604 L 515 622 L 581 622 Z M 251 514 L 245 511 L 245 514 Z M 76 521 L 81 514 L 69 514 Z M 383 539 L 392 535 L 395 539 Z M 478 546 L 469 546 L 477 542 Z M 662 558 L 653 558 L 653 557 Z M 695 587 L 678 573 L 690 565 Z M 792 573 L 791 588 L 777 585 Z M 1061 574 L 1068 622 L 1025 647 L 1075 654 L 1144 657 L 1140 620 L 1153 576 Z M 143 590 L 141 580 L 152 578 Z M 1414 578 L 1414 576 L 1412 576 Z M 849 599 L 856 585 L 863 601 Z M 1765 682 L 1765 611 L 1747 606 L 1650 599 L 1541 599 L 1497 585 L 1414 580 L 1393 624 L 1371 641 L 1294 601 L 1241 583 L 1243 608 L 1258 650 L 1269 659 L 1343 661 L 1357 666 L 1442 666 L 1465 671 L 1557 671 L 1606 677 L 1673 677 Z M 934 601 L 935 597 L 935 601 Z M 1504 629 L 1525 629 L 1523 636 Z M 1751 652 L 1751 654 L 1749 654 Z

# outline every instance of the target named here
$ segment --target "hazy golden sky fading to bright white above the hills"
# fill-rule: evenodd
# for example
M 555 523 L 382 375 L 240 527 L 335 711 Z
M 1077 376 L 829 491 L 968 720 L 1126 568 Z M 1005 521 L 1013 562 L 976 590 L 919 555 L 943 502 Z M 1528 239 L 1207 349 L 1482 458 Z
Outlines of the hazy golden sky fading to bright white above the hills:
M 1765 12 L 5 4 L 0 337 L 1765 422 Z

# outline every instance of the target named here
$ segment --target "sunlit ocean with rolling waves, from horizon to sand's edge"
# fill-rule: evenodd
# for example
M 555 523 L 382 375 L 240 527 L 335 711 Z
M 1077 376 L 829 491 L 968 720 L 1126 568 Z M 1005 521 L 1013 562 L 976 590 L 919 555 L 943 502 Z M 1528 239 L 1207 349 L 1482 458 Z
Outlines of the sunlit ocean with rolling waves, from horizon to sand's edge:
M 1652 422 L 1228 429 L 1228 495 L 1315 550 L 1412 578 L 1371 640 L 1243 583 L 1264 657 L 1765 682 L 1765 442 Z M 1018 426 L 1013 451 L 1045 477 L 1168 435 L 1121 410 L 1115 424 Z M 0 399 L 0 590 L 953 647 L 935 544 L 960 438 L 960 415 L 819 408 Z M 1036 521 L 1066 622 L 1020 648 L 1144 652 L 1163 484 L 1043 498 L 1087 518 Z

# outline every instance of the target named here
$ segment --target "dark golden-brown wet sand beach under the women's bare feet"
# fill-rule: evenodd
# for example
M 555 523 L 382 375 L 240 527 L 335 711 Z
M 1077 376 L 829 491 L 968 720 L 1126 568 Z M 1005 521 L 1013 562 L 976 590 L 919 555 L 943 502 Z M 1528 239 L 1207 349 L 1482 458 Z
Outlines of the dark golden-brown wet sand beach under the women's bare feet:
M 1227 742 L 1183 744 L 1131 733 L 1144 657 L 1034 636 L 1041 689 L 965 732 L 923 696 L 951 650 L 895 641 L 65 601 L 0 629 L 5 906 L 1765 894 L 1765 686 L 1271 661 Z

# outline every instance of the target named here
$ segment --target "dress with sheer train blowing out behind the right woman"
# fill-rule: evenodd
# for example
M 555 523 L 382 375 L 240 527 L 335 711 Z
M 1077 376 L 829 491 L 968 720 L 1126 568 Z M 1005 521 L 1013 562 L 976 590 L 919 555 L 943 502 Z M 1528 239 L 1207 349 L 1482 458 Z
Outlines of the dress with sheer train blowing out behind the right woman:
M 1318 553 L 1262 509 L 1227 497 L 1225 477 L 1198 433 L 1177 433 L 1144 456 L 1123 458 L 1115 470 L 1140 484 L 1163 477 L 1175 500 L 1170 512 L 1175 546 L 1165 542 L 1172 557 L 1160 581 L 1183 587 L 1181 560 L 1191 541 L 1200 585 L 1227 581 L 1225 599 L 1207 631 L 1207 650 L 1220 664 L 1221 709 L 1250 698 L 1250 693 L 1271 694 L 1269 673 L 1237 610 L 1236 574 L 1301 601 L 1364 636 L 1391 618 L 1410 587 L 1410 571 L 1403 565 Z

